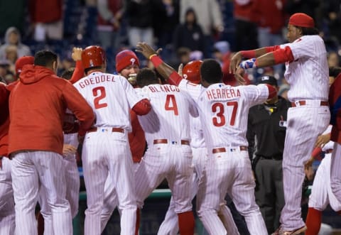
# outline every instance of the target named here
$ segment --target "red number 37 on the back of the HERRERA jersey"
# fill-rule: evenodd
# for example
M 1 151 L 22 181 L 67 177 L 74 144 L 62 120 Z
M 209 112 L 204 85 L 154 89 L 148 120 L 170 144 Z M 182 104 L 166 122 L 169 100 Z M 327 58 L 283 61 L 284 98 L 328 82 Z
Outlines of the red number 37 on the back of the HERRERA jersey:
M 232 114 L 231 114 L 231 119 L 229 120 L 229 125 L 234 126 L 234 123 L 236 121 L 238 102 L 227 102 L 226 104 L 227 106 L 232 106 Z M 222 103 L 212 104 L 212 112 L 216 113 L 217 115 L 212 118 L 213 125 L 224 126 L 226 124 L 225 115 L 224 115 L 224 104 Z

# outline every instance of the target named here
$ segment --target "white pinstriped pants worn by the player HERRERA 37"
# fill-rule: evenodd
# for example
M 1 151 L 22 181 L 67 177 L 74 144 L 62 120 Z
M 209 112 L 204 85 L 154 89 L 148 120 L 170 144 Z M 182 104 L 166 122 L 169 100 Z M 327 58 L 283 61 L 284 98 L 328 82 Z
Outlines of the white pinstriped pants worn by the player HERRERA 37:
M 234 148 L 224 153 L 209 153 L 197 191 L 197 214 L 209 234 L 227 234 L 219 212 L 228 193 L 252 235 L 267 234 L 254 197 L 254 177 L 247 151 Z

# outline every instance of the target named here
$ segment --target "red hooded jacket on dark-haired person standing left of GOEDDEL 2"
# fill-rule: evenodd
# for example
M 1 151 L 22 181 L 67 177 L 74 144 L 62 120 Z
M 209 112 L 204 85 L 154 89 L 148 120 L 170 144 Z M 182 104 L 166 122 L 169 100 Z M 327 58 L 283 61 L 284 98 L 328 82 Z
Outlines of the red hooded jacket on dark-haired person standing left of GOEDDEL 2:
M 63 153 L 63 117 L 70 109 L 85 133 L 94 121 L 89 104 L 70 82 L 47 67 L 25 65 L 9 98 L 9 153 Z

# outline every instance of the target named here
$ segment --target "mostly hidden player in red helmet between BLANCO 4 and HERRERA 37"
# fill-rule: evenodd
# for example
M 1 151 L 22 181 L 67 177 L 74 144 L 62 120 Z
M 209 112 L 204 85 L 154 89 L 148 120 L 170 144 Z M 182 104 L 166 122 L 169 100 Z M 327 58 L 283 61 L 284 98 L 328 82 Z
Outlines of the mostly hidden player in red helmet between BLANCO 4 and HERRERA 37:
M 194 84 L 200 83 L 200 66 L 202 64 L 201 60 L 195 60 L 188 62 L 183 67 L 182 75 L 185 80 L 192 82 Z M 202 124 L 199 117 L 190 117 L 190 147 L 193 152 L 193 167 L 194 167 L 194 177 L 193 177 L 193 190 L 192 199 L 197 194 L 197 185 L 199 184 L 202 171 L 205 168 L 205 162 L 207 160 L 207 149 L 205 145 L 204 136 L 202 134 Z M 225 229 L 227 229 L 227 234 L 239 234 L 236 225 L 232 219 L 232 214 L 226 205 L 223 205 L 221 210 L 221 219 L 224 223 Z M 160 228 L 158 229 L 158 235 L 176 235 L 178 234 L 178 215 L 175 213 L 175 202 L 173 197 L 171 197 L 171 202 L 166 213 L 166 217 L 163 220 Z

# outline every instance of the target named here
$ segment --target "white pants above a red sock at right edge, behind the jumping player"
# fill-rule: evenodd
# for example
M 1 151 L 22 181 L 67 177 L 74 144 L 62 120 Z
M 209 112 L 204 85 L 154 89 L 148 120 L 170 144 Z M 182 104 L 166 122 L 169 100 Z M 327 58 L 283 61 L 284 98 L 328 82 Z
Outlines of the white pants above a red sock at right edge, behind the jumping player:
M 309 207 L 318 209 L 321 212 L 327 208 L 328 204 L 335 212 L 341 210 L 341 202 L 337 200 L 330 187 L 331 161 L 332 153 L 325 154 L 325 158 L 323 158 L 316 171 L 308 202 Z

